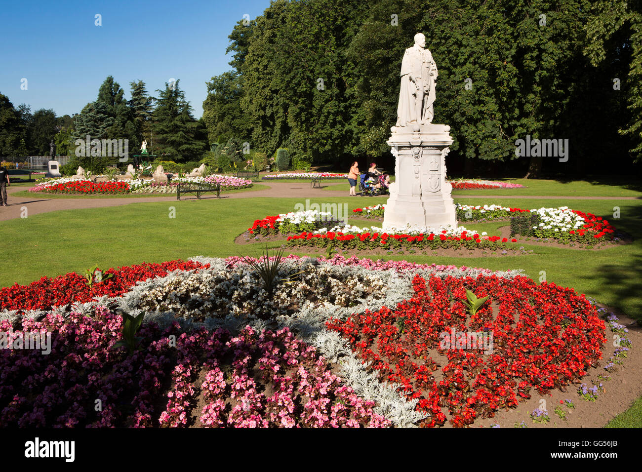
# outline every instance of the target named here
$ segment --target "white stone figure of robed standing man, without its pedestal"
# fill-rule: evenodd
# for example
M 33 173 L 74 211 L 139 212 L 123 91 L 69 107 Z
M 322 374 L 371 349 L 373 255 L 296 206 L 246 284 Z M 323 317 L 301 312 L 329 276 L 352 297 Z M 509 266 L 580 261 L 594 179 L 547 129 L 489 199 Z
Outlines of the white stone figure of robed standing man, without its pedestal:
M 401 89 L 397 106 L 397 127 L 433 121 L 437 65 L 426 47 L 426 37 L 415 35 L 415 45 L 406 49 L 401 62 Z

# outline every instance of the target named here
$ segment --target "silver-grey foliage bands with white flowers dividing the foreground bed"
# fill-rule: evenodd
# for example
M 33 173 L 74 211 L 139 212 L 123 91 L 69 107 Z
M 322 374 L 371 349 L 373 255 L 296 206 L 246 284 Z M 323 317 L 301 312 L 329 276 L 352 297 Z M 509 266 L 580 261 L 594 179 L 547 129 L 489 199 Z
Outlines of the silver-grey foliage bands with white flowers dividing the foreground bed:
M 202 264 L 209 264 L 209 268 L 193 271 L 175 270 L 164 277 L 155 277 L 147 281 L 139 281 L 132 286 L 129 292 L 120 297 L 96 297 L 94 301 L 86 303 L 74 303 L 70 306 L 58 306 L 53 310 L 30 310 L 24 314 L 19 311 L 2 310 L 0 320 L 9 319 L 15 321 L 20 317 L 40 319 L 46 313 L 58 313 L 66 316 L 69 313 L 89 314 L 97 306 L 123 311 L 131 316 L 136 316 L 145 311 L 144 322 L 156 322 L 160 326 L 168 326 L 172 322 L 178 322 L 183 329 L 194 329 L 205 326 L 207 329 L 225 328 L 230 331 L 237 331 L 244 326 L 252 326 L 257 330 L 273 328 L 290 328 L 297 333 L 308 344 L 314 345 L 320 354 L 333 363 L 340 366 L 340 374 L 359 396 L 372 400 L 376 403 L 375 412 L 389 419 L 395 426 L 402 428 L 414 427 L 419 421 L 428 417 L 427 414 L 417 412 L 417 400 L 409 401 L 398 391 L 399 385 L 394 383 L 379 382 L 376 372 L 369 372 L 367 364 L 361 362 L 352 352 L 347 340 L 334 331 L 325 329 L 325 321 L 329 317 L 345 320 L 352 313 L 362 313 L 365 310 L 376 311 L 382 306 L 394 308 L 399 302 L 406 300 L 413 295 L 412 279 L 415 274 L 426 278 L 431 275 L 438 277 L 477 277 L 480 274 L 495 274 L 498 277 L 513 278 L 523 275 L 522 270 L 508 270 L 490 272 L 474 268 L 448 268 L 437 270 L 428 268 L 425 270 L 412 269 L 408 272 L 397 272 L 394 269 L 372 270 L 358 265 L 334 265 L 316 258 L 284 259 L 282 270 L 291 272 L 306 268 L 306 277 L 323 277 L 330 284 L 347 284 L 354 289 L 356 297 L 350 300 L 345 306 L 345 301 L 337 297 L 335 303 L 329 301 L 318 302 L 317 304 L 306 304 L 303 302 L 300 310 L 294 315 L 282 313 L 275 310 L 270 319 L 260 319 L 252 311 L 241 312 L 230 311 L 225 317 L 205 317 L 203 321 L 197 321 L 190 316 L 176 316 L 173 305 L 179 300 L 179 295 L 189 295 L 189 301 L 196 306 L 207 306 L 208 309 L 215 308 L 218 304 L 225 302 L 223 297 L 213 297 L 214 291 L 223 290 L 227 297 L 234 296 L 234 290 L 241 288 L 245 290 L 247 284 L 243 281 L 248 278 L 250 267 L 246 264 L 239 264 L 235 268 L 229 268 L 225 259 L 207 258 L 196 256 L 191 258 Z M 304 277 L 305 278 L 305 277 Z M 309 281 L 309 280 L 308 280 Z M 364 290 L 365 284 L 376 287 L 376 296 L 368 295 Z M 239 284 L 241 287 L 239 287 Z M 302 286 L 307 286 L 306 280 Z M 299 286 L 299 290 L 302 290 Z M 305 287 L 304 287 L 305 288 Z M 309 287 L 308 288 L 313 288 Z M 280 289 L 281 290 L 281 289 Z M 295 290 L 297 290 L 295 288 Z M 332 288 L 331 288 L 332 290 Z M 279 299 L 292 295 L 279 290 L 274 297 Z M 261 301 L 265 297 L 258 293 Z M 300 297 L 299 293 L 299 297 Z M 162 300 L 155 300 L 154 297 L 162 297 Z M 283 300 L 281 300 L 283 301 Z M 156 304 L 154 302 L 157 302 Z M 336 303 L 339 304 L 336 304 Z M 165 304 L 164 306 L 162 304 Z M 141 308 L 141 307 L 144 307 Z M 160 310 L 160 308 L 167 308 Z M 250 308 L 250 306 L 247 306 Z M 198 308 L 196 308 L 198 311 Z M 189 311 L 186 312 L 189 315 Z M 199 312 L 200 313 L 200 312 Z M 182 313 L 181 313 L 182 314 Z

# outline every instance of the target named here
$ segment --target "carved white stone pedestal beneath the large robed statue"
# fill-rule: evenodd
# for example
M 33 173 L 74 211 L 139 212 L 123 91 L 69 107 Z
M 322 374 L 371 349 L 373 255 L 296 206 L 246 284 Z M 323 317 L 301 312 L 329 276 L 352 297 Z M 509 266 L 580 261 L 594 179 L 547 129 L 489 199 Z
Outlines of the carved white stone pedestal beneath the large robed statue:
M 390 184 L 383 228 L 456 227 L 453 187 L 446 182 L 446 154 L 453 143 L 450 127 L 427 123 L 390 130 L 395 182 Z

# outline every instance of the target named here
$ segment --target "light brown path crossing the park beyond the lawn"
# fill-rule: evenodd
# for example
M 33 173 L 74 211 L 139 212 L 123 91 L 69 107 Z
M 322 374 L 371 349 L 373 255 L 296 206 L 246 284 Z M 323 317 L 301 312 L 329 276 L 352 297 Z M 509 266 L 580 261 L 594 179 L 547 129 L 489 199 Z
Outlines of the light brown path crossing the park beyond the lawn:
M 265 180 L 260 183 L 261 185 L 268 186 L 265 190 L 245 191 L 239 193 L 222 193 L 221 199 L 227 198 L 333 198 L 347 196 L 344 190 L 324 190 L 318 188 L 311 188 L 308 180 L 302 180 L 300 183 L 293 182 L 266 182 Z M 344 182 L 327 182 L 325 185 L 337 185 Z M 71 210 L 82 208 L 102 208 L 114 207 L 120 205 L 128 205 L 132 203 L 146 203 L 146 202 L 172 202 L 176 201 L 176 196 L 171 194 L 167 197 L 128 197 L 128 198 L 47 198 L 42 195 L 33 195 L 33 197 L 12 197 L 13 193 L 25 190 L 23 186 L 10 186 L 7 189 L 8 207 L 0 207 L 0 221 L 13 220 L 13 218 L 20 218 L 22 208 L 28 208 L 28 214 L 34 215 L 39 213 L 49 213 L 50 211 L 58 210 Z M 210 199 L 205 194 L 202 199 Z M 455 198 L 485 198 L 487 200 L 495 198 L 532 198 L 532 199 L 566 199 L 566 200 L 640 200 L 642 197 L 569 197 L 562 195 L 557 197 L 542 197 L 541 195 L 453 195 Z M 188 195 L 183 197 L 183 200 L 196 200 L 196 197 Z M 356 201 L 367 202 L 366 199 Z

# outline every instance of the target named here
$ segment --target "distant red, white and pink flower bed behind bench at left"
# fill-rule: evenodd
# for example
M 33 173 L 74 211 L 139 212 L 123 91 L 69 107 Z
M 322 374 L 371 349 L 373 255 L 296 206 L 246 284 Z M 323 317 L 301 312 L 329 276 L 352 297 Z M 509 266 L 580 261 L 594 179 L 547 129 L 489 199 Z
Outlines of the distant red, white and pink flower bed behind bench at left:
M 49 179 L 29 189 L 30 192 L 73 193 L 85 195 L 125 195 L 128 193 L 175 193 L 179 182 L 207 182 L 220 184 L 221 191 L 252 187 L 252 180 L 238 179 L 229 175 L 211 175 L 209 177 L 177 177 L 171 182 L 155 182 L 150 179 L 109 180 L 108 182 L 91 182 L 64 177 Z

